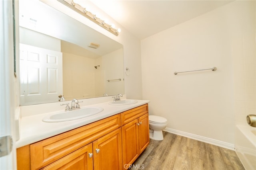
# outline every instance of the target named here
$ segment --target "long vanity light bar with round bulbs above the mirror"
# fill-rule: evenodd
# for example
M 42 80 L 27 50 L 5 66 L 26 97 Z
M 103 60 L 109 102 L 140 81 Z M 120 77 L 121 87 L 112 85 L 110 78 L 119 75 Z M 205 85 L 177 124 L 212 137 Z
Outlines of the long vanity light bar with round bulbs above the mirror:
M 97 23 L 98 25 L 110 31 L 116 36 L 118 36 L 118 33 L 121 31 L 120 28 L 115 29 L 114 25 L 110 25 L 106 23 L 104 20 L 101 20 L 95 14 L 92 14 L 91 12 L 87 11 L 86 8 L 80 6 L 79 4 L 76 4 L 73 0 L 58 0 L 58 1 L 68 6 L 69 8 L 73 9 L 74 11 L 78 12 L 82 16 L 85 16 L 86 18 L 93 21 L 94 23 Z

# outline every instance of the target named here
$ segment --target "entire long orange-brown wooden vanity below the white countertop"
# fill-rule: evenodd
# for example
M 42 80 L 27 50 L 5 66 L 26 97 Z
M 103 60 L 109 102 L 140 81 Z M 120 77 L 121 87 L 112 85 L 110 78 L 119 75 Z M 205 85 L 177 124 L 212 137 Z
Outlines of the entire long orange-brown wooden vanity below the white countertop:
M 128 168 L 149 144 L 148 102 L 105 104 L 112 115 L 17 148 L 18 170 Z

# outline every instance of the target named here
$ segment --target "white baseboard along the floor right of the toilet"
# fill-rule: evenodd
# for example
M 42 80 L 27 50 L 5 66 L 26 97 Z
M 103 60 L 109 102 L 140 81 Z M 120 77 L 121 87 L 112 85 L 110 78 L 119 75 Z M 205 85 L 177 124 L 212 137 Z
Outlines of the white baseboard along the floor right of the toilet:
M 168 127 L 166 127 L 164 129 L 164 131 L 169 132 L 169 133 L 173 133 L 173 134 L 176 134 L 176 135 L 180 135 L 180 136 L 183 136 L 183 137 L 187 137 L 187 138 L 190 138 L 190 139 L 194 139 L 194 140 L 197 140 L 197 141 L 201 141 L 201 142 L 209 143 L 209 144 L 212 144 L 212 145 L 216 145 L 218 147 L 222 147 L 222 148 L 226 148 L 226 149 L 230 149 L 230 150 L 235 150 L 235 145 L 232 145 L 232 144 L 226 143 L 226 142 L 222 142 L 222 141 L 218 141 L 218 140 L 215 140 L 215 139 L 211 139 L 211 138 L 208 138 L 208 137 L 203 137 L 203 136 L 200 136 L 200 135 L 194 135 L 192 133 L 186 133 L 186 132 L 178 131 L 178 130 L 171 129 L 171 128 L 168 128 Z

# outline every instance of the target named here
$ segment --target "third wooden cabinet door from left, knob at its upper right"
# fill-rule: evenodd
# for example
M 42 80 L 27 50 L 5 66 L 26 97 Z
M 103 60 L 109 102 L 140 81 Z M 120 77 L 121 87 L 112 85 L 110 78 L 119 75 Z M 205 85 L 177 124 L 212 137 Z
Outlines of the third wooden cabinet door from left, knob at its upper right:
M 122 126 L 123 164 L 132 164 L 139 156 L 138 119 Z

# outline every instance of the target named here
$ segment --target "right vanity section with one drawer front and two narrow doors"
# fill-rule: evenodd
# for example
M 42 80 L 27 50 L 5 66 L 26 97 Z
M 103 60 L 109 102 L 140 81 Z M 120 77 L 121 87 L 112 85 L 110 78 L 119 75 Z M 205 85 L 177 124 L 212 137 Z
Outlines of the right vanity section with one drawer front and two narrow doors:
M 148 104 L 121 113 L 123 168 L 132 164 L 149 144 Z

